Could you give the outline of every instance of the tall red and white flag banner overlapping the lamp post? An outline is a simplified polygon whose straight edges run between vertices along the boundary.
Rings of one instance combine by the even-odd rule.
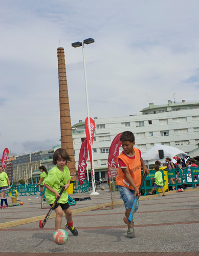
[[[91,161],[91,174],[93,177],[93,157],[92,157],[92,145],[93,145],[93,137],[94,137],[94,131],[95,131],[95,122],[93,119],[90,117],[90,127],[91,127],[91,136],[89,133],[89,122],[88,118],[86,117],[85,119],[85,133],[86,133],[86,139],[87,139],[87,145],[89,148],[89,156],[90,156],[90,161]],[[94,177],[93,177],[94,180]]]

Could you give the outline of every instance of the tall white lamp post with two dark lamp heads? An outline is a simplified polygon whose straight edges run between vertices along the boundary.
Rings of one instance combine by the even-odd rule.
[[[91,126],[90,126],[90,113],[89,113],[89,97],[88,97],[88,92],[87,92],[87,78],[86,78],[86,67],[85,67],[85,52],[84,52],[84,44],[89,45],[92,44],[92,42],[95,42],[93,38],[88,38],[83,40],[82,42],[73,42],[72,47],[80,47],[82,46],[82,52],[83,52],[83,67],[84,67],[84,80],[85,80],[85,93],[86,93],[86,106],[87,106],[87,118],[88,118],[88,123],[89,123],[89,133],[91,137]],[[93,192],[91,195],[99,195],[99,193],[96,191],[96,186],[95,186],[95,170],[94,170],[94,160],[93,160],[93,149],[91,145],[91,152],[92,152],[92,164],[93,164],[93,180],[92,180],[92,187],[93,187]]]

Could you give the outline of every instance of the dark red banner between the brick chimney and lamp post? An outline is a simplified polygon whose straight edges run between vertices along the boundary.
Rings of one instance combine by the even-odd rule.
[[[78,180],[80,185],[82,185],[83,181],[86,179],[85,170],[87,167],[87,163],[86,163],[87,158],[88,158],[87,139],[85,138],[81,144],[81,148],[79,152]]]

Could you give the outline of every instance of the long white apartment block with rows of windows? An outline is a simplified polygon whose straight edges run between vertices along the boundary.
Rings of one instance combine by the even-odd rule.
[[[182,103],[175,101],[173,103],[168,100],[168,104],[165,105],[149,103],[149,107],[140,112],[141,115],[94,118],[96,125],[93,141],[94,167],[95,172],[101,177],[107,178],[105,173],[110,144],[117,134],[124,131],[135,134],[135,147],[139,148],[142,154],[156,143],[178,147],[186,153],[198,147],[199,101],[188,103],[183,100]],[[76,170],[78,170],[80,147],[86,137],[84,122],[79,121],[73,125],[72,131]],[[88,166],[90,168],[90,161]]]

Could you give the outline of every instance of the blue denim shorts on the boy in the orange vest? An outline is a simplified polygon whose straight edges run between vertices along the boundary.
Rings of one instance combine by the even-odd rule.
[[[125,209],[126,210],[131,209],[132,205],[134,204],[134,201],[135,201],[135,197],[134,197],[135,190],[132,190],[127,187],[120,186],[120,185],[117,185],[117,187],[120,192],[121,199],[124,201]],[[138,209],[138,205],[139,204],[137,203],[135,212]]]

